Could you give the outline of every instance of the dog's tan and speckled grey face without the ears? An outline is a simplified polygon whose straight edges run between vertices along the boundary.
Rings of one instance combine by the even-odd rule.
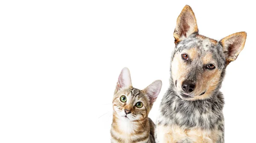
[[[218,49],[221,45],[217,41],[200,35],[191,35],[177,43],[171,70],[181,98],[206,97],[220,84],[226,61]]]

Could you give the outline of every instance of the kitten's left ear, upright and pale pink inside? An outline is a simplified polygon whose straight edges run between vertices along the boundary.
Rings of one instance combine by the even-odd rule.
[[[127,67],[124,67],[118,77],[118,81],[116,83],[116,91],[130,87],[132,87],[130,71]]]

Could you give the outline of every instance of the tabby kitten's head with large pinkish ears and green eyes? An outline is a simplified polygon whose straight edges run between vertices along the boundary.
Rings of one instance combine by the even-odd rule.
[[[130,71],[123,68],[113,97],[113,115],[128,121],[142,120],[148,117],[154,101],[162,87],[162,81],[156,80],[144,90],[132,87]]]

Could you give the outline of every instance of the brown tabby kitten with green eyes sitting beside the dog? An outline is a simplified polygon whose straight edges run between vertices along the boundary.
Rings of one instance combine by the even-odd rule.
[[[130,71],[123,68],[113,96],[111,143],[155,143],[154,122],[148,118],[162,88],[156,80],[144,90],[132,87]]]

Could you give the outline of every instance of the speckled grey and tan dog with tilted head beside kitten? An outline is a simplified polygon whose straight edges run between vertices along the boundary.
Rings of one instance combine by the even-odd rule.
[[[202,36],[192,8],[185,6],[173,35],[170,87],[160,104],[156,142],[224,143],[224,98],[219,90],[247,34],[238,32],[220,41]]]

